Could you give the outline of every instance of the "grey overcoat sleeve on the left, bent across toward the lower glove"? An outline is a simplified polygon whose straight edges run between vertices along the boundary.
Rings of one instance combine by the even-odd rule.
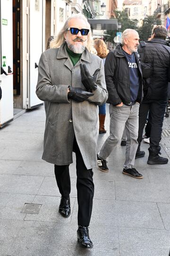
[[[68,101],[69,84],[51,84],[49,64],[45,53],[42,53],[38,64],[38,82],[36,94],[42,101],[70,103]]]

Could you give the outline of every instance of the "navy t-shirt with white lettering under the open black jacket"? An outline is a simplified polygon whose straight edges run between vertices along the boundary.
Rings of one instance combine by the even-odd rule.
[[[137,70],[137,64],[135,60],[135,55],[131,55],[124,51],[127,58],[128,68],[129,68],[129,78],[130,78],[130,99],[132,102],[136,101],[137,94],[139,90],[139,75]]]

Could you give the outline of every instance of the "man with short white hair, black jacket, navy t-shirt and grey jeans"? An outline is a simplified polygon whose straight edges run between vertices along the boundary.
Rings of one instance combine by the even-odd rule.
[[[97,155],[98,167],[108,172],[107,157],[120,142],[126,127],[127,145],[123,174],[142,179],[134,168],[138,136],[138,111],[143,97],[142,70],[137,54],[139,35],[134,29],[122,33],[121,45],[110,52],[105,62],[105,80],[110,103],[110,136]]]

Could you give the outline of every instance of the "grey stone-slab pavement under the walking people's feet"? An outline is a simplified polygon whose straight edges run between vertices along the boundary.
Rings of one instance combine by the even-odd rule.
[[[62,120],[61,120],[62,121]],[[41,160],[44,107],[28,111],[0,129],[0,256],[168,256],[170,249],[170,162],[147,165],[136,160],[144,175],[123,175],[125,147],[108,159],[109,173],[94,171],[95,195],[90,224],[91,250],[76,241],[77,201],[75,163],[68,219],[58,213],[60,194],[53,165]],[[99,135],[100,148],[109,135]],[[170,117],[163,129],[170,129]],[[170,156],[170,137],[162,137],[162,156]],[[75,159],[75,157],[74,157]],[[24,213],[24,205],[34,214]],[[36,210],[39,210],[38,214]]]

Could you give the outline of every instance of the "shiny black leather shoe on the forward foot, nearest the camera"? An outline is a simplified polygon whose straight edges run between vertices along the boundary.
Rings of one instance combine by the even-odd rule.
[[[93,248],[93,243],[89,237],[88,227],[78,226],[77,241],[78,241],[80,247],[89,248],[89,249]]]

